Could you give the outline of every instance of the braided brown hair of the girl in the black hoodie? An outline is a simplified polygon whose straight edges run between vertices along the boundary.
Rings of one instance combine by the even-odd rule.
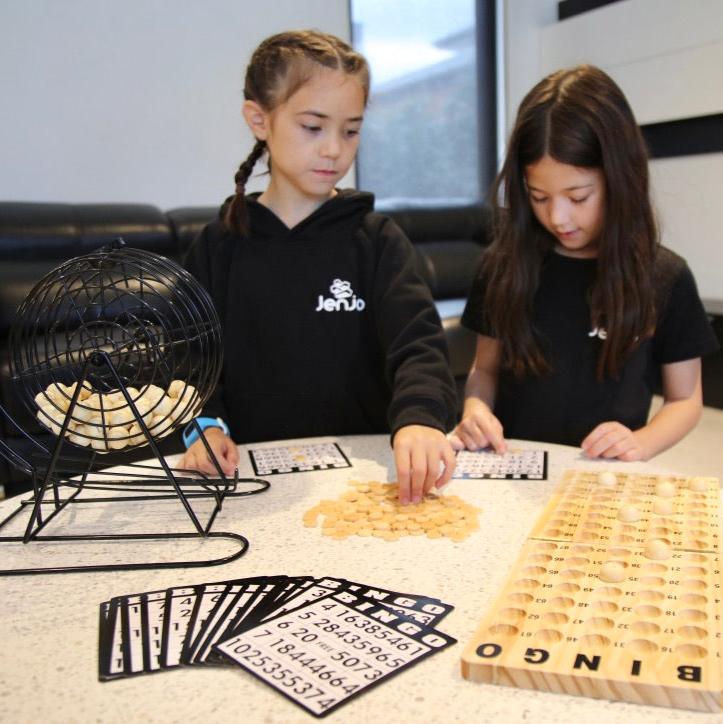
[[[307,83],[319,66],[356,76],[366,104],[369,66],[364,56],[336,36],[316,30],[289,31],[266,38],[254,51],[246,69],[244,98],[256,101],[265,111],[272,111]],[[266,143],[257,140],[234,176],[236,193],[222,210],[230,231],[246,232],[246,182],[265,151]]]

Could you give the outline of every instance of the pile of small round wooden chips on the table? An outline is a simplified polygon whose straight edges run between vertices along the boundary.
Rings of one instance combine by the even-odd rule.
[[[461,541],[479,528],[475,508],[456,495],[427,495],[420,503],[401,505],[396,483],[350,481],[351,490],[337,500],[322,500],[304,513],[304,525],[331,538],[375,536],[386,541],[407,535]]]

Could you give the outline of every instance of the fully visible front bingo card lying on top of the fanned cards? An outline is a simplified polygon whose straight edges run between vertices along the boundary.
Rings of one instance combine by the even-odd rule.
[[[322,717],[453,643],[345,590],[247,629],[216,650]]]

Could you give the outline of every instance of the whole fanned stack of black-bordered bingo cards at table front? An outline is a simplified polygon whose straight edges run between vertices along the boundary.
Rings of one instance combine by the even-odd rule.
[[[99,678],[239,666],[315,716],[456,643],[429,596],[340,578],[262,576],[100,606]]]

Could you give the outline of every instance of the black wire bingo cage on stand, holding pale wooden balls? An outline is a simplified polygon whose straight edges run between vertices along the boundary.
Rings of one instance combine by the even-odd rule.
[[[0,521],[0,543],[154,541],[222,537],[235,550],[193,561],[117,561],[36,566],[0,574],[216,565],[248,548],[236,533],[211,532],[227,496],[269,487],[265,480],[224,475],[196,414],[221,371],[221,327],[208,293],[182,267],[117,240],[48,273],[18,308],[10,331],[10,372],[28,413],[51,443],[23,429],[0,407],[20,445],[0,438],[0,455],[32,479],[32,494]],[[217,477],[172,468],[158,442],[192,423]],[[45,436],[48,438],[48,436]],[[150,464],[124,462],[147,446]],[[177,499],[194,532],[68,532],[71,504]],[[202,504],[201,504],[201,501]],[[203,507],[203,519],[200,508]],[[27,515],[24,522],[23,512]],[[185,516],[182,516],[185,520]],[[3,535],[20,521],[21,535]],[[109,516],[113,525],[113,515]],[[23,531],[24,527],[24,531]],[[52,534],[48,528],[53,529]],[[59,530],[57,530],[59,528]]]

